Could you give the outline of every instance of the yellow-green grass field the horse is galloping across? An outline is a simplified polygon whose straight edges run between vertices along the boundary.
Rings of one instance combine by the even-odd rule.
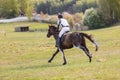
[[[94,35],[98,52],[87,40],[92,63],[82,50],[73,48],[65,50],[65,66],[61,54],[47,62],[56,50],[53,37],[47,38],[46,31],[14,32],[22,25],[47,28],[47,24],[33,22],[0,24],[0,80],[120,80],[120,25],[83,31]]]

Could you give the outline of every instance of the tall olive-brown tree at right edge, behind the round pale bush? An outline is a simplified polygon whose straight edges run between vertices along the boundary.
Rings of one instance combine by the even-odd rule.
[[[120,0],[99,0],[99,11],[104,16],[104,22],[111,25],[120,20]]]

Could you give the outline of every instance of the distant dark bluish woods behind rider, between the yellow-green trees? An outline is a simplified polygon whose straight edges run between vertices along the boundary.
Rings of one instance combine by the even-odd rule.
[[[47,14],[57,14],[59,12],[85,12],[86,9],[97,8],[96,0],[46,0],[35,4],[37,13],[41,11]]]

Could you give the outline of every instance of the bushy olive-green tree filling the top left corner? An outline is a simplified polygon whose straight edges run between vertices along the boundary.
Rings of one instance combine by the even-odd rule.
[[[12,18],[19,14],[19,5],[17,0],[1,0],[0,17]]]

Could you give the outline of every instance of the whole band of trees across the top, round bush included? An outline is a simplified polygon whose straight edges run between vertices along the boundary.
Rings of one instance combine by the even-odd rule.
[[[92,28],[120,22],[120,0],[37,0],[37,2],[1,0],[0,2],[0,18],[13,18],[20,14],[31,16],[33,10],[38,14],[43,12],[49,15],[64,11],[71,14],[83,13],[84,25]]]

